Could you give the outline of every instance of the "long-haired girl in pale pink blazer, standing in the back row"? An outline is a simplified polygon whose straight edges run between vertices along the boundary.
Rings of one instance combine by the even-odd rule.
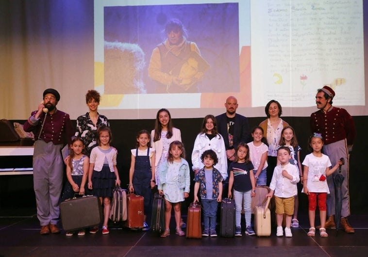
[[[156,150],[156,184],[158,184],[159,180],[159,166],[167,161],[169,145],[175,140],[182,141],[180,130],[172,126],[170,112],[165,108],[159,109],[156,115],[154,130],[151,131],[151,146]]]

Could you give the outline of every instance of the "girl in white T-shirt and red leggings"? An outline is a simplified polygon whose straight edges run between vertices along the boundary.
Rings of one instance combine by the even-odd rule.
[[[321,237],[328,237],[326,232],[326,197],[330,194],[327,185],[326,177],[335,172],[341,161],[339,161],[333,168],[330,169],[330,158],[321,152],[323,147],[323,138],[321,134],[314,133],[309,137],[309,146],[312,148],[312,153],[305,156],[303,161],[303,190],[302,192],[308,196],[308,216],[309,216],[309,237],[314,237],[316,234],[315,218],[316,208],[318,203],[319,219],[321,227],[319,228],[319,235]],[[317,200],[318,198],[318,200]]]

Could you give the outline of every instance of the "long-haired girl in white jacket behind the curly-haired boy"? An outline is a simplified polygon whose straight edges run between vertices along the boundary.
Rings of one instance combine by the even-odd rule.
[[[215,168],[220,171],[223,179],[226,180],[228,173],[225,142],[223,137],[217,132],[216,118],[211,114],[204,117],[201,133],[198,134],[194,142],[192,164],[195,174],[203,168],[203,163],[201,162],[202,153],[210,149],[216,152],[218,158]]]

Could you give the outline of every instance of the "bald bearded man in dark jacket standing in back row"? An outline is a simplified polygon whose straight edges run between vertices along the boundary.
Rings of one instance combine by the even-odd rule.
[[[226,112],[216,117],[218,133],[224,138],[225,142],[228,166],[235,159],[235,149],[238,144],[250,141],[248,119],[236,113],[237,107],[237,99],[234,96],[229,96],[225,103]],[[222,192],[227,192],[227,189]]]

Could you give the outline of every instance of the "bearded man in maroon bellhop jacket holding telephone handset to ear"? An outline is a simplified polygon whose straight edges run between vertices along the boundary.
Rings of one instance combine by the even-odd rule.
[[[59,233],[59,198],[63,183],[63,157],[60,150],[70,145],[74,135],[69,114],[56,109],[60,94],[54,89],[43,92],[43,101],[23,125],[34,134],[33,188],[41,235]],[[46,109],[47,108],[47,111]]]

